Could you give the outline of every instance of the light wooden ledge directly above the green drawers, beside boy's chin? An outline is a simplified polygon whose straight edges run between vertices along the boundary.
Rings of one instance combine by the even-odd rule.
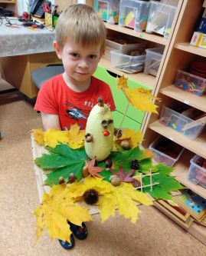
[[[107,70],[112,71],[116,75],[125,75],[126,78],[136,81],[136,82],[150,88],[151,90],[155,87],[155,76],[153,76],[153,75],[147,75],[143,72],[128,74],[123,71],[119,71],[116,68],[112,68],[110,61],[106,58],[101,58],[100,65],[103,66],[103,68],[106,68]]]

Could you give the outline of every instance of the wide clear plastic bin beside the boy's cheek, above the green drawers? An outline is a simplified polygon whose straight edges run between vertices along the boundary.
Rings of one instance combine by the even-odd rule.
[[[142,71],[145,61],[146,55],[131,56],[126,52],[111,51],[111,66],[126,73]]]

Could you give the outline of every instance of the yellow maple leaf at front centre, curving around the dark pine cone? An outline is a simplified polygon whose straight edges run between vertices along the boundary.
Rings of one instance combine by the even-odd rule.
[[[136,207],[135,201],[146,205],[152,204],[146,194],[135,191],[133,186],[126,182],[122,182],[121,185],[115,187],[101,178],[87,176],[83,182],[75,182],[67,189],[74,201],[83,200],[85,191],[95,189],[99,195],[96,205],[100,208],[102,222],[115,214],[116,207],[119,209],[119,214],[123,214],[125,218],[129,218],[132,222],[136,222],[140,211]]]

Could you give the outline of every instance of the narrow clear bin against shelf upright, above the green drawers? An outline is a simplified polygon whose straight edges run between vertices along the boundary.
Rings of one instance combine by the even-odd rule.
[[[163,52],[164,48],[162,47],[146,49],[146,65],[144,73],[157,75]]]

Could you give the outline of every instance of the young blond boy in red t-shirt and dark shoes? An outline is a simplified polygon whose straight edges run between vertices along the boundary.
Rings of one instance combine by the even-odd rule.
[[[57,20],[54,49],[64,65],[64,73],[41,86],[34,109],[41,111],[44,129],[70,128],[76,122],[85,128],[87,117],[99,97],[115,109],[109,85],[94,78],[98,62],[105,49],[106,28],[102,19],[88,5],[70,5]],[[71,231],[79,239],[87,238],[87,228],[70,223]],[[59,240],[60,241],[60,240]],[[66,248],[70,243],[60,241]]]

